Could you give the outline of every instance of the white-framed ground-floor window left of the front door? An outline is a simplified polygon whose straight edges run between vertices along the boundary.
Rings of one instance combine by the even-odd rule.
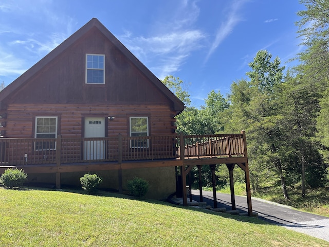
[[[57,137],[57,117],[35,117],[35,138],[51,139]],[[35,150],[55,150],[54,140],[35,142]]]

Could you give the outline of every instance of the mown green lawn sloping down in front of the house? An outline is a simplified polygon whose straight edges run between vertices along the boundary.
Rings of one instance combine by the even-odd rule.
[[[329,246],[251,218],[102,192],[0,187],[0,246]]]

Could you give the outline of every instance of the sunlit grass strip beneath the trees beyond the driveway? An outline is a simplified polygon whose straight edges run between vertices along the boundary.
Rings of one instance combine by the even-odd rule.
[[[304,198],[301,196],[301,186],[299,184],[294,187],[289,186],[287,189],[290,197],[289,200],[284,199],[280,185],[271,185],[260,188],[258,191],[252,191],[251,196],[329,217],[329,187],[316,189],[307,188]],[[225,186],[217,191],[221,193],[230,193],[230,186]],[[245,184],[235,183],[234,192],[235,195],[245,196]]]

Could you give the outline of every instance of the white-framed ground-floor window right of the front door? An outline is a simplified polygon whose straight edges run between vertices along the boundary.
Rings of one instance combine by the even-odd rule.
[[[149,118],[148,117],[130,117],[130,136],[148,136]],[[148,148],[149,139],[133,139],[132,148]]]

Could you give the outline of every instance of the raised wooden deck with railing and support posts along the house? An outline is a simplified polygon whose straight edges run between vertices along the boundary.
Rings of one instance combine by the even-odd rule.
[[[247,197],[251,200],[245,132],[240,134],[138,136],[102,138],[1,138],[0,174],[7,168],[26,173],[123,170],[181,167],[182,186],[193,166],[226,164],[233,184],[237,164],[246,173]],[[213,171],[214,177],[214,171]],[[249,189],[248,189],[249,188]],[[183,190],[187,205],[186,191]],[[234,197],[234,189],[232,197]],[[232,198],[233,200],[233,198]],[[233,203],[232,203],[233,204]],[[248,202],[249,205],[249,202]],[[250,201],[250,215],[251,201]]]

